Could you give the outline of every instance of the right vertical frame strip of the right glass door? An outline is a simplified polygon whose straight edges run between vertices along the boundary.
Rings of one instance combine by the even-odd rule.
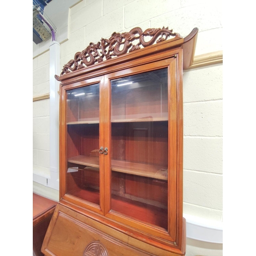
[[[168,67],[168,233],[176,242],[177,235],[177,68],[176,57]]]

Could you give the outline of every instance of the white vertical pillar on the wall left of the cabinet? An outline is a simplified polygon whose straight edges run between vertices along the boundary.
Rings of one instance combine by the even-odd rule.
[[[59,82],[54,75],[60,73],[60,45],[50,44],[50,173],[47,185],[59,190]]]

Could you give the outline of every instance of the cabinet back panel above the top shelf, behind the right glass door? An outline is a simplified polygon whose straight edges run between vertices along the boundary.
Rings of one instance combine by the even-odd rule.
[[[167,119],[167,69],[111,81],[112,122],[147,118]]]

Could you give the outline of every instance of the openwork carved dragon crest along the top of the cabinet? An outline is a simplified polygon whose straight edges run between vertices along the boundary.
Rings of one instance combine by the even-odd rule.
[[[82,69],[101,62],[105,59],[111,59],[122,54],[141,49],[142,47],[151,46],[154,42],[166,40],[169,36],[175,36],[172,40],[182,38],[178,33],[173,33],[173,30],[167,28],[162,29],[146,29],[144,32],[141,28],[133,28],[130,32],[116,33],[114,32],[109,39],[101,38],[97,44],[93,42],[82,52],[77,52],[74,59],[71,59],[63,66],[60,76],[72,71]],[[146,37],[151,37],[146,41]],[[138,40],[137,44],[132,44]]]

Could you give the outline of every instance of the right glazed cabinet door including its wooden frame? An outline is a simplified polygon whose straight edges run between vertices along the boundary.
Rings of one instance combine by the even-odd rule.
[[[158,230],[172,241],[177,202],[175,70],[173,57],[108,75],[108,216],[152,234]]]

